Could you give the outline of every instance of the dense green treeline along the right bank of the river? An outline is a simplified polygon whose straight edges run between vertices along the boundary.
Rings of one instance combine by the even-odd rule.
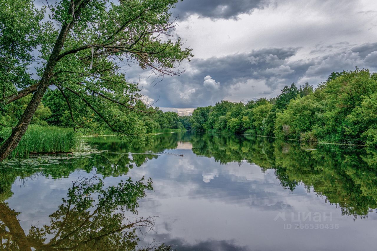
[[[285,86],[279,96],[221,101],[180,120],[186,129],[377,146],[377,73],[333,72],[316,89]]]

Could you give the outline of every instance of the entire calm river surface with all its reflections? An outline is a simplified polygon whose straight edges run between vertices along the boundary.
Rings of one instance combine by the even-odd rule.
[[[376,249],[373,149],[190,132],[90,144],[2,164],[0,250]]]

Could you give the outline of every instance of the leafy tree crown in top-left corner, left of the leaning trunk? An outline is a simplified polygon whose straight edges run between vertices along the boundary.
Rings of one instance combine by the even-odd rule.
[[[14,100],[17,88],[35,84],[28,66],[32,51],[41,44],[43,32],[51,28],[42,23],[46,8],[35,9],[33,1],[4,0],[0,4],[0,91],[1,98]],[[10,96],[9,96],[10,95]]]

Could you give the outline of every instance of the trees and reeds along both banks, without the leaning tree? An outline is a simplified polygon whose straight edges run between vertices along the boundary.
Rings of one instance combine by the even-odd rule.
[[[56,102],[61,93],[48,90],[45,96],[25,136],[9,157],[29,157],[32,152],[72,152],[79,150],[80,142],[89,134],[119,134],[99,124],[91,115],[83,116],[86,131],[74,132],[67,116],[68,108]],[[15,101],[2,117],[0,122],[8,126],[0,128],[0,144],[11,134],[11,126],[30,98],[28,95]],[[198,107],[191,116],[162,112],[141,101],[139,105],[147,115],[133,115],[138,130],[133,130],[133,136],[121,137],[122,141],[140,143],[148,141],[153,134],[192,130],[316,144],[377,146],[377,73],[365,69],[333,72],[316,89],[308,83],[299,88],[291,84],[270,99],[260,98],[246,104],[221,101],[215,106]]]

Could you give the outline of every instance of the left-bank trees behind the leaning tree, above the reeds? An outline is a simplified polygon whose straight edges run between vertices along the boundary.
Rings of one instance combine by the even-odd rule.
[[[2,125],[0,127],[0,137],[3,130],[15,126],[31,98],[32,95],[29,94],[9,104],[6,110],[0,111],[0,124]],[[109,117],[107,118],[109,121],[111,119],[112,121],[122,121],[121,123],[128,124],[132,129],[129,131],[134,132],[135,135],[145,135],[146,133],[159,132],[164,129],[184,129],[176,112],[162,112],[158,107],[147,106],[141,100],[136,100],[133,108],[134,110],[130,112],[130,110],[121,110],[119,107],[113,106],[112,110],[108,110],[103,116]],[[72,121],[72,117],[75,118],[75,122]],[[84,105],[80,103],[71,104],[71,109],[69,109],[66,99],[58,89],[46,91],[32,118],[31,124],[77,127],[78,130],[98,134],[110,130],[100,116]],[[0,143],[2,140],[4,139],[0,138]]]

